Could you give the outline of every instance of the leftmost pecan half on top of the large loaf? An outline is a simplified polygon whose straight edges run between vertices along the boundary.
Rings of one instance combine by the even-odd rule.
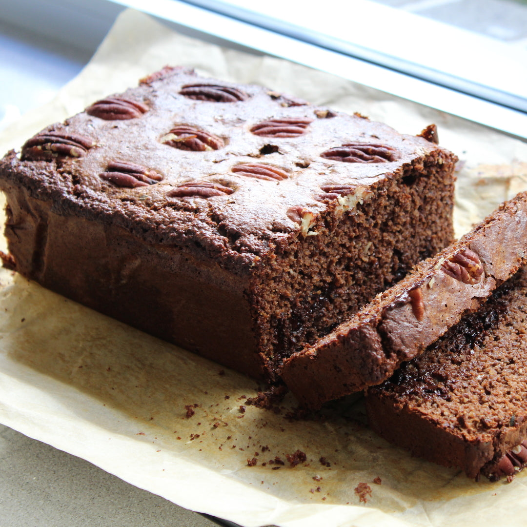
[[[60,155],[81,158],[94,145],[93,139],[64,130],[40,132],[24,143],[21,157],[23,161],[49,161]]]

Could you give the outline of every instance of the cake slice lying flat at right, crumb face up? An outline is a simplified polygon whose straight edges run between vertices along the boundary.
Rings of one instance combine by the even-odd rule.
[[[372,428],[467,476],[527,464],[527,268],[391,379],[367,392]]]

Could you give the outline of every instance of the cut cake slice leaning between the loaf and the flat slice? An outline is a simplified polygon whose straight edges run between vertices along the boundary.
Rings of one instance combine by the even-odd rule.
[[[354,317],[285,360],[281,376],[318,408],[382,383],[527,263],[527,193],[379,294]]]

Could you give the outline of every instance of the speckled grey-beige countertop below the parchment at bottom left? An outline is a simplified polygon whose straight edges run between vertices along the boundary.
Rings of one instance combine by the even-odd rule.
[[[0,425],[1,527],[217,524],[125,483],[79,457]]]

